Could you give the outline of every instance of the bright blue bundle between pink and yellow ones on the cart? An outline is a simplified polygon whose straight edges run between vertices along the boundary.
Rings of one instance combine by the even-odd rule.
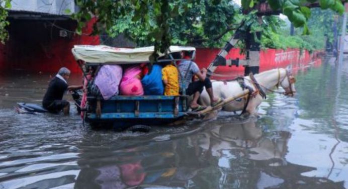
[[[144,88],[144,95],[163,95],[162,66],[152,65],[151,72],[141,79],[141,84]]]

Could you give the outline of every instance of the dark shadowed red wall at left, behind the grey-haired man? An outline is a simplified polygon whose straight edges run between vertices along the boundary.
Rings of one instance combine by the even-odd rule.
[[[83,33],[91,33],[91,21]],[[68,32],[68,37],[60,37],[52,26],[53,21],[12,20],[10,39],[0,45],[0,70],[25,70],[29,72],[56,72],[60,67],[68,67],[72,72],[79,68],[71,54],[75,44],[100,44],[99,37],[76,35]],[[76,23],[72,20],[55,21],[54,25],[74,31]]]

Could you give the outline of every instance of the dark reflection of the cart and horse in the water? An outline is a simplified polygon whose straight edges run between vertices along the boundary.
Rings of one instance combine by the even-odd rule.
[[[140,146],[108,146],[106,154],[79,146],[81,171],[75,187],[343,188],[342,183],[302,175],[314,167],[286,161],[290,132],[265,133],[254,118],[222,119],[179,139],[173,135],[158,142],[145,137],[138,141]]]

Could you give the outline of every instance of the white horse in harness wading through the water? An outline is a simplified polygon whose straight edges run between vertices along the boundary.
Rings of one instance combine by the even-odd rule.
[[[256,83],[259,84],[263,91],[271,91],[276,86],[282,86],[285,90],[284,94],[288,96],[294,96],[296,90],[294,83],[296,82],[289,68],[277,68],[269,71],[264,71],[254,75],[255,81],[250,79],[250,76],[244,77],[245,85],[251,87],[255,93],[254,97],[251,96],[249,103],[245,109],[245,113],[254,114],[256,108],[262,103],[263,97],[260,95],[259,89],[256,87]],[[234,97],[243,91],[238,81],[212,81],[213,91],[215,97],[229,98]],[[203,90],[200,97],[200,103],[204,106],[210,105],[209,95],[206,90]],[[232,103],[224,106],[222,111],[235,112],[243,110],[246,104],[246,98],[242,98],[239,101],[233,101]]]

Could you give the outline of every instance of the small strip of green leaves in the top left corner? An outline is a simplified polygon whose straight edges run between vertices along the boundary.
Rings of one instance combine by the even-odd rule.
[[[7,20],[8,12],[6,9],[11,8],[11,0],[0,0],[0,41],[5,44],[5,41],[9,38],[9,33],[6,27],[10,24]]]

